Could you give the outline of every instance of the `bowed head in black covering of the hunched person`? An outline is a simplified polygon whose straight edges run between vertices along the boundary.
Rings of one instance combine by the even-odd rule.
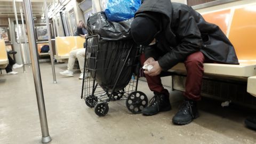
[[[140,45],[149,45],[160,29],[157,13],[137,14],[131,23],[133,41]]]

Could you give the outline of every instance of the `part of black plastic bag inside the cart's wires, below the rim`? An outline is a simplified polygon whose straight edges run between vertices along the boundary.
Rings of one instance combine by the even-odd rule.
[[[88,64],[91,76],[105,91],[122,90],[129,84],[137,61],[138,49],[132,41],[100,41],[99,48],[87,44]],[[130,52],[130,54],[129,54]],[[129,55],[128,55],[129,54]],[[127,60],[126,60],[127,59]],[[126,62],[125,62],[126,60]]]

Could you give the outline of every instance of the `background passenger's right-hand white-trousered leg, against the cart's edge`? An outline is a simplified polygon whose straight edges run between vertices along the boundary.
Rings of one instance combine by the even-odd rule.
[[[84,61],[85,61],[85,49],[80,49],[77,53],[76,53],[76,57],[79,63],[79,68],[81,70],[81,74],[79,76],[79,79],[83,79],[83,74],[84,74]],[[89,73],[85,73],[84,78],[89,77],[90,74]]]

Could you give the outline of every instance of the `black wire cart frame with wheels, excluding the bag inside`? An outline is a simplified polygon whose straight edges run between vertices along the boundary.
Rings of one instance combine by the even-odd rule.
[[[95,43],[94,45],[88,45],[88,40],[92,38],[92,43]],[[96,40],[97,42],[94,42]],[[113,89],[111,91],[103,89],[105,87],[101,87],[97,82],[96,82],[96,75],[98,70],[102,69],[97,69],[97,62],[99,60],[104,60],[98,57],[98,53],[101,51],[101,46],[100,46],[100,36],[99,35],[93,35],[86,37],[86,50],[85,50],[85,62],[84,62],[84,73],[83,73],[83,84],[82,84],[82,94],[81,94],[81,99],[85,100],[85,103],[88,107],[93,108],[95,114],[98,116],[105,116],[108,113],[109,110],[109,102],[110,101],[115,101],[115,100],[126,100],[126,107],[128,110],[130,110],[133,114],[139,114],[141,113],[141,110],[148,105],[148,98],[145,93],[137,91],[138,88],[138,81],[139,81],[139,58],[140,58],[140,51],[141,47],[138,47],[135,59],[137,59],[137,62],[132,63],[132,67],[134,67],[134,73],[132,74],[132,78],[127,84],[124,89],[122,90],[115,90],[117,82],[119,81],[119,78],[122,75],[122,72],[125,68],[125,63],[127,62],[127,59],[129,59],[131,50],[134,49],[133,46],[127,48],[129,49],[129,52],[125,58],[124,65],[121,68],[120,73],[117,75],[115,79]],[[91,54],[87,51],[88,49],[95,49],[95,57],[91,57]],[[86,61],[89,60],[94,60],[95,65],[94,68],[91,68],[89,66],[89,63]],[[89,71],[91,73],[94,73],[94,77],[89,76]]]

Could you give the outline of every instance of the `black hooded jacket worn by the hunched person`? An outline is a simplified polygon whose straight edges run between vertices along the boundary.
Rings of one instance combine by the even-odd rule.
[[[145,0],[135,18],[140,15],[150,17],[152,12],[159,15],[161,30],[155,37],[156,47],[147,46],[144,51],[146,59],[155,58],[163,70],[183,62],[197,51],[217,62],[239,64],[234,46],[221,29],[206,22],[190,6],[170,0]]]

